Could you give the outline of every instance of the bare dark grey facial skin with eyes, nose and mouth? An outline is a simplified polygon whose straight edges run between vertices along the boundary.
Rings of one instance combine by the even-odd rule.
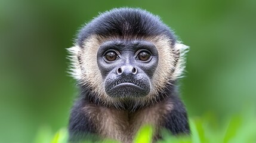
[[[158,66],[158,50],[147,41],[107,41],[98,49],[97,64],[109,97],[144,97]]]

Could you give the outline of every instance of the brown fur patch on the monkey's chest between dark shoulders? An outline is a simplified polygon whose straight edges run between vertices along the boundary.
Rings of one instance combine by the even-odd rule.
[[[97,130],[103,138],[116,139],[121,142],[132,142],[138,129],[149,124],[158,129],[161,123],[161,116],[152,111],[140,111],[134,114],[124,111],[106,110],[101,112],[98,119]]]

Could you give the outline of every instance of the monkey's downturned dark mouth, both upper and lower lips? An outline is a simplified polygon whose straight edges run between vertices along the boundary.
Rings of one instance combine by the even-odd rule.
[[[144,97],[150,91],[149,83],[131,78],[116,80],[105,87],[105,91],[110,97]]]

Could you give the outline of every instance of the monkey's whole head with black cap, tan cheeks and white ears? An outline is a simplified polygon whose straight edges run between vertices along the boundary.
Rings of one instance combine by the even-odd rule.
[[[157,102],[181,76],[187,48],[159,17],[113,9],[79,31],[70,73],[95,104],[134,109]]]

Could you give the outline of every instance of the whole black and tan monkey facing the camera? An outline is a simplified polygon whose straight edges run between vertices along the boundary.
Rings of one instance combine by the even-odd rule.
[[[132,142],[144,124],[173,135],[190,134],[178,95],[189,46],[159,16],[140,8],[114,8],[79,30],[69,48],[70,74],[81,93],[69,119],[69,141],[90,135]]]

